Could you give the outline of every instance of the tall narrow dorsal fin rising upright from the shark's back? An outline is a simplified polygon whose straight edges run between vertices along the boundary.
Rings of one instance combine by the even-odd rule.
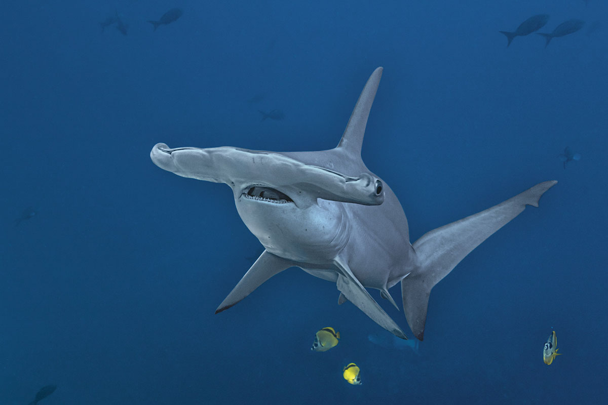
[[[371,104],[376,97],[376,90],[378,90],[381,77],[382,67],[376,68],[371,73],[361,95],[359,95],[359,100],[357,100],[357,104],[354,106],[353,113],[350,115],[344,134],[342,134],[342,139],[340,139],[340,143],[337,146],[339,149],[345,149],[350,155],[361,157],[361,145],[363,144],[367,117],[370,115]]]

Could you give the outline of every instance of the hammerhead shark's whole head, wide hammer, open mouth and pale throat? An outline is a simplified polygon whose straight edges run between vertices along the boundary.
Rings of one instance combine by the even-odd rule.
[[[349,221],[343,206],[331,202],[384,201],[384,185],[370,172],[351,177],[277,152],[159,143],[150,156],[182,177],[229,185],[247,228],[266,250],[292,260],[327,262],[344,247]]]

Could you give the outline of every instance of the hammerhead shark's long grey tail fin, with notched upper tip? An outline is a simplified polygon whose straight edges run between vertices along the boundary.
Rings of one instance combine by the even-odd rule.
[[[554,180],[539,183],[499,205],[441,226],[416,240],[413,248],[420,270],[401,280],[403,309],[416,338],[423,339],[429,294],[435,284],[488,236],[519,215],[526,205],[538,206],[542,194],[556,183]]]

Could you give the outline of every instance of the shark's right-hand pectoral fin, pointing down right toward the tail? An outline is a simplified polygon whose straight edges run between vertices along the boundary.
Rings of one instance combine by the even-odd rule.
[[[370,293],[365,290],[359,280],[354,276],[348,265],[334,261],[338,269],[337,287],[348,301],[352,302],[360,310],[364,311],[365,315],[369,316],[374,322],[388,330],[393,335],[401,339],[407,339],[407,336],[399,325],[384,312],[382,307],[378,305]]]

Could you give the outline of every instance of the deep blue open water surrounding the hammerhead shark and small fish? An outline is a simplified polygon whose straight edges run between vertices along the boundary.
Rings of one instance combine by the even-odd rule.
[[[606,398],[608,5],[375,3],[2,5],[1,405],[47,384],[58,389],[44,405]],[[182,17],[153,32],[147,20],[173,7]],[[100,29],[115,11],[126,36]],[[540,32],[587,26],[507,48],[499,30],[539,13],[551,16]],[[370,342],[381,328],[297,268],[214,315],[261,246],[227,186],[162,171],[150,149],[333,148],[377,66],[362,157],[399,197],[412,242],[559,184],[433,289],[418,354]],[[564,169],[566,146],[582,157]],[[339,345],[311,352],[326,326]],[[546,366],[552,328],[564,355]],[[342,378],[349,362],[362,386]]]

